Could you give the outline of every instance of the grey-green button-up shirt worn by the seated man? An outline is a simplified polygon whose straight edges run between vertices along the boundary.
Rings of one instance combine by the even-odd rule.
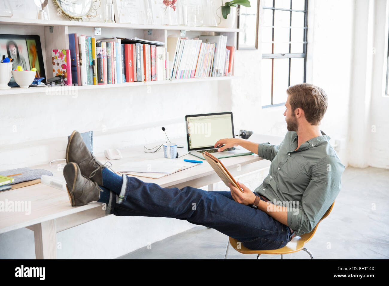
[[[321,133],[296,151],[296,132],[287,132],[280,145],[267,142],[258,146],[258,155],[272,163],[254,192],[287,207],[287,223],[296,235],[311,232],[341,188],[345,167],[329,144],[330,137]]]

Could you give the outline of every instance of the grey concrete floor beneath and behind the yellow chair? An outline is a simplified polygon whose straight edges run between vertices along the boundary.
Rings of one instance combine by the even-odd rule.
[[[346,168],[342,190],[331,214],[306,244],[315,259],[389,258],[389,170]],[[228,237],[214,229],[197,226],[158,241],[118,259],[224,259]],[[229,259],[255,259],[234,249]],[[304,251],[285,254],[284,259],[308,259]],[[280,259],[262,254],[261,259]]]

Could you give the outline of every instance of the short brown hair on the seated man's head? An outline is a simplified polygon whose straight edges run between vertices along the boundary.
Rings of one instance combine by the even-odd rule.
[[[292,112],[301,108],[311,125],[320,124],[328,106],[327,94],[323,89],[310,83],[299,83],[289,86],[286,92],[289,94]]]

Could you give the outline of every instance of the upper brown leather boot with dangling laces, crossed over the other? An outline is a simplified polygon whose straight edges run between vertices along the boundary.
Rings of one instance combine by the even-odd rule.
[[[76,130],[73,131],[66,147],[66,163],[74,162],[79,165],[81,174],[88,177],[98,185],[103,185],[102,163],[96,160],[91,151],[86,146],[82,136]]]

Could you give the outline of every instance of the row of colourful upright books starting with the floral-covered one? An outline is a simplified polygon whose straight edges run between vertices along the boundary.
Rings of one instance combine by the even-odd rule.
[[[168,55],[163,43],[122,44],[123,39],[97,40],[77,33],[68,35],[69,49],[52,51],[53,75],[63,75],[67,85],[168,79]]]

